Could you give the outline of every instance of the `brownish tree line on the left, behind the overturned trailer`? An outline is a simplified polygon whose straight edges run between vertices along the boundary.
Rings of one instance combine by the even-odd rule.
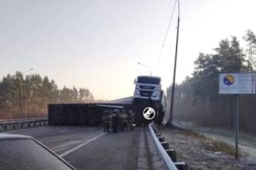
[[[24,75],[17,71],[0,81],[0,119],[44,117],[49,103],[92,103],[89,89],[60,89],[54,80],[40,74]]]

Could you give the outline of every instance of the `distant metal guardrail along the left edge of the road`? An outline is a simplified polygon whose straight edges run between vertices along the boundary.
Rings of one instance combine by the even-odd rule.
[[[22,118],[0,122],[0,131],[14,130],[16,128],[22,129],[24,127],[36,127],[36,125],[46,125],[47,118]]]

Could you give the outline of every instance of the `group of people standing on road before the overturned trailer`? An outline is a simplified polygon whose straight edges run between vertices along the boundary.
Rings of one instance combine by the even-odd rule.
[[[102,117],[104,132],[133,131],[134,113],[131,110],[106,110]]]

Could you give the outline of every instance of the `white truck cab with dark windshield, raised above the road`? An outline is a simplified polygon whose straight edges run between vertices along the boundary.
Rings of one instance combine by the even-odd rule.
[[[161,78],[157,76],[138,76],[134,80],[134,99],[150,99],[159,101],[161,99]]]

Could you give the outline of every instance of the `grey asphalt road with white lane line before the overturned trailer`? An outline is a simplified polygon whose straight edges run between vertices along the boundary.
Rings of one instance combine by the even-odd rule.
[[[76,169],[164,169],[147,127],[104,133],[101,127],[42,126],[9,133],[33,136]]]

